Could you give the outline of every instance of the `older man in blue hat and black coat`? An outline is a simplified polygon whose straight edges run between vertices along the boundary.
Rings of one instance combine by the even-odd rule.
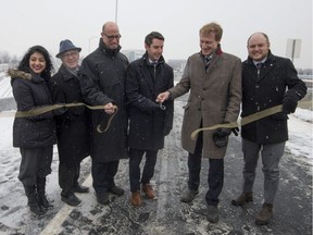
[[[62,65],[51,78],[50,91],[53,103],[83,102],[77,71],[79,52],[68,39],[60,42],[60,51],[55,55]],[[78,184],[80,162],[90,153],[90,134],[88,110],[83,106],[55,110],[58,150],[59,150],[59,185],[62,188],[61,200],[70,206],[78,206],[80,199],[74,193],[88,193],[89,188]]]

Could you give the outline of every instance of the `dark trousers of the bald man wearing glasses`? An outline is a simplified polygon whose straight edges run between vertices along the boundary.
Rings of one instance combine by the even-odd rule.
[[[117,173],[120,161],[97,162],[92,160],[92,186],[97,194],[109,191],[115,186],[114,176]]]

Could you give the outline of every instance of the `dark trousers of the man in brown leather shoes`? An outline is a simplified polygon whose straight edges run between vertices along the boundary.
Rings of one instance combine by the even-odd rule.
[[[142,177],[140,181],[140,163],[146,152],[146,162],[142,171]],[[138,149],[129,149],[129,181],[130,191],[135,193],[140,190],[141,184],[149,184],[150,180],[154,175],[154,166],[156,163],[158,151],[145,151]]]

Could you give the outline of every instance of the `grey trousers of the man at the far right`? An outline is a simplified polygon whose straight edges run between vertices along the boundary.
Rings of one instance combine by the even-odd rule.
[[[261,145],[242,138],[243,193],[252,191],[261,152],[264,173],[264,200],[266,203],[274,202],[279,183],[279,161],[284,154],[285,144],[286,141]]]

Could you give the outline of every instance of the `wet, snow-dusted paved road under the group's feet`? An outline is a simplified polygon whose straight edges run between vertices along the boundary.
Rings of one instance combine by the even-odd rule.
[[[179,101],[178,101],[179,102]],[[177,103],[177,102],[176,102]],[[262,206],[263,174],[258,170],[254,201],[245,207],[234,207],[230,200],[240,194],[242,154],[240,138],[231,137],[225,159],[225,184],[221,195],[221,219],[217,224],[206,221],[204,195],[208,188],[208,161],[203,160],[200,194],[190,205],[181,203],[179,197],[187,186],[187,153],[180,148],[183,111],[175,110],[174,129],[160,151],[154,188],[158,200],[143,200],[135,209],[129,203],[128,162],[121,161],[116,183],[126,189],[122,197],[111,197],[109,206],[98,205],[95,191],[79,195],[82,206],[72,208],[60,202],[55,194],[54,209],[45,219],[21,222],[23,230],[11,230],[4,234],[118,234],[118,235],[310,235],[312,234],[312,171],[304,162],[295,161],[286,152],[281,160],[281,181],[274,219],[271,224],[258,226],[253,217]],[[90,161],[85,161],[83,174],[86,185]],[[51,197],[51,195],[50,195]],[[1,231],[1,225],[0,225]],[[9,231],[9,230],[8,230]],[[1,232],[0,232],[1,234]]]

